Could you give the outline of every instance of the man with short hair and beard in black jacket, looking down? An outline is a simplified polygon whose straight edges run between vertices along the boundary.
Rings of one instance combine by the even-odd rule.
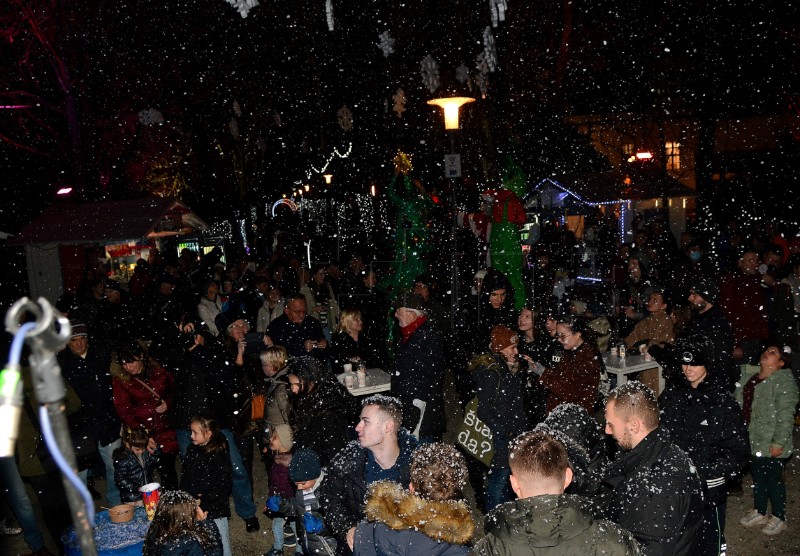
[[[606,401],[606,434],[622,450],[605,473],[604,517],[627,529],[647,556],[696,553],[703,494],[694,464],[659,426],[658,402],[641,382]]]

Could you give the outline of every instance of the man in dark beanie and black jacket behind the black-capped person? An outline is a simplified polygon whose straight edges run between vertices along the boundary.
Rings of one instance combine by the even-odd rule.
[[[705,336],[713,346],[712,359],[717,362],[717,375],[713,380],[728,392],[733,392],[739,369],[733,360],[733,331],[722,310],[715,305],[719,288],[713,279],[699,276],[692,280],[689,290],[692,320],[683,336]]]

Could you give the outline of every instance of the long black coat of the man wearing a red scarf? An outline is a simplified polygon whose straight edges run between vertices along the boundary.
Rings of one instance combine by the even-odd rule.
[[[439,437],[447,428],[444,415],[444,360],[442,336],[427,320],[395,353],[392,395],[403,402],[403,426],[414,430],[419,422],[415,399],[426,403],[420,438]]]

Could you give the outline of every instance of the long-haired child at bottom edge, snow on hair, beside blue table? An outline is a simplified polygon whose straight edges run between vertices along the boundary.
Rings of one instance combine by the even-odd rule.
[[[188,492],[161,494],[147,531],[143,556],[222,556],[222,541],[214,522]]]

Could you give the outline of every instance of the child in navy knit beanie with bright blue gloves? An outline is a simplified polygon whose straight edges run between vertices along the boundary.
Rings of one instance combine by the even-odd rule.
[[[322,484],[319,456],[311,448],[301,448],[292,456],[289,477],[297,486],[294,498],[271,496],[267,508],[288,518],[297,518],[297,533],[305,554],[336,554],[336,538],[325,526],[317,489]]]

